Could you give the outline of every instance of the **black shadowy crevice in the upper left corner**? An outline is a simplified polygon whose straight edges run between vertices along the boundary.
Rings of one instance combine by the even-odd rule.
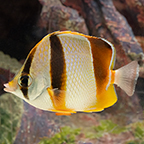
[[[37,0],[5,0],[0,5],[0,51],[18,60],[26,58],[39,41],[34,33],[42,9]]]

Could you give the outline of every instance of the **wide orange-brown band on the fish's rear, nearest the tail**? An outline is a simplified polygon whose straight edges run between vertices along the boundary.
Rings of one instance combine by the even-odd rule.
[[[102,39],[88,38],[88,40],[91,44],[94,74],[98,93],[100,90],[104,90],[109,82],[109,66],[112,57],[112,48]]]

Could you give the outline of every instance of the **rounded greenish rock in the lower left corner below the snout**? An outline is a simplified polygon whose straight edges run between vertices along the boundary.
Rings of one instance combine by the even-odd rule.
[[[23,102],[20,98],[5,93],[0,97],[0,142],[12,144],[20,127]]]

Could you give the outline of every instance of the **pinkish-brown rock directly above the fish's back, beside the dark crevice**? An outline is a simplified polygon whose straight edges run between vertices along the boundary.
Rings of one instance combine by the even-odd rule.
[[[88,34],[85,20],[72,8],[65,7],[59,0],[40,0],[43,5],[39,26],[47,32],[71,30]]]

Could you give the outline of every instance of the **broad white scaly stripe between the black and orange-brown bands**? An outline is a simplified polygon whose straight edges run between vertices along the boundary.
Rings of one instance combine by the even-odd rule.
[[[66,59],[66,107],[82,111],[96,102],[91,45],[88,39],[81,35],[61,34],[58,37],[62,42]],[[85,45],[81,45],[83,43]]]

